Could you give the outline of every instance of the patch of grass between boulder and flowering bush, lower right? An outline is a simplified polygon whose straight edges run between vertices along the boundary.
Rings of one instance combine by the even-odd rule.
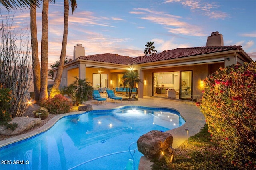
[[[170,154],[158,160],[152,159],[152,170],[237,170],[226,158],[222,157],[222,149],[210,142],[207,125],[191,136],[188,142],[182,143],[174,150],[174,162],[170,162]]]

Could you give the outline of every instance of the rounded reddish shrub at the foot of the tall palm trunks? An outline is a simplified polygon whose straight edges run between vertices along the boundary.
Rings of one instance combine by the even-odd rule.
[[[68,113],[72,108],[71,102],[61,94],[58,94],[53,98],[48,98],[47,100],[42,100],[40,106],[47,108],[50,114]]]

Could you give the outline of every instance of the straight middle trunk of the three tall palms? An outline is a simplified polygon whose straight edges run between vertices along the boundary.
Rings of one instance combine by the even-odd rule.
[[[42,40],[41,40],[41,89],[39,99],[48,98],[48,9],[49,0],[43,1],[42,10]]]

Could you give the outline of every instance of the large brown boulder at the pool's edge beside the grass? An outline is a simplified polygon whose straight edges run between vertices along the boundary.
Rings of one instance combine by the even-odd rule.
[[[142,136],[137,141],[138,151],[150,158],[172,146],[173,137],[171,134],[152,130]]]

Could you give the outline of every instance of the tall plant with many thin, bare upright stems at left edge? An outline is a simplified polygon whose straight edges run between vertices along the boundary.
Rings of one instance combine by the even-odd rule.
[[[6,23],[2,15],[1,19],[0,82],[12,92],[12,105],[8,108],[8,113],[12,117],[18,117],[22,116],[26,108],[26,94],[32,75],[29,37],[15,29],[10,16],[6,16]]]

